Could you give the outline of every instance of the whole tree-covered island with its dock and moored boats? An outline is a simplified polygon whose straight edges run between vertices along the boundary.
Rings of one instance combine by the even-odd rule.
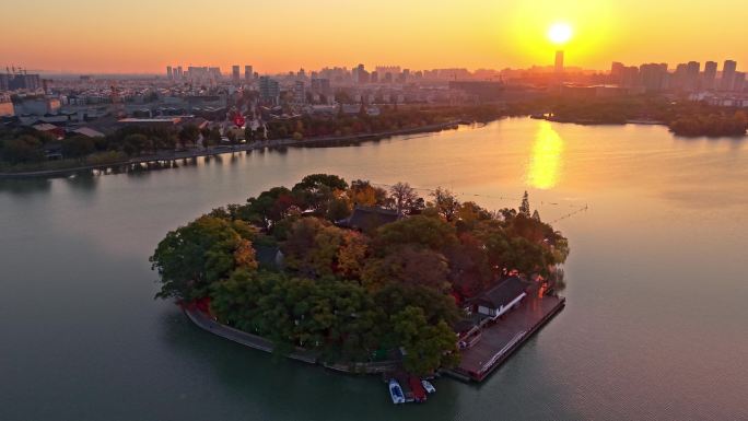
[[[421,378],[482,381],[563,307],[568,254],[527,194],[491,212],[314,174],[170,232],[151,262],[197,326],[424,400]]]

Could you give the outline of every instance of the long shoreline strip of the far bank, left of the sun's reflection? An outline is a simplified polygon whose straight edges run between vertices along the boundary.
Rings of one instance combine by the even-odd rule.
[[[242,143],[236,145],[222,145],[213,147],[209,149],[196,149],[191,151],[184,152],[171,152],[164,154],[155,155],[143,155],[139,157],[133,157],[127,161],[113,162],[107,164],[95,164],[95,165],[80,165],[69,168],[57,168],[57,169],[38,169],[38,171],[24,171],[17,173],[0,173],[0,179],[23,179],[23,178],[39,178],[39,177],[56,177],[73,175],[83,171],[96,171],[96,169],[107,169],[114,167],[122,167],[128,165],[140,165],[150,164],[157,162],[172,162],[178,160],[188,160],[200,156],[215,156],[227,153],[235,152],[247,152],[255,150],[262,150],[267,148],[322,148],[327,145],[344,145],[344,144],[358,144],[371,140],[382,140],[386,138],[391,138],[395,136],[405,135],[417,135],[417,133],[435,133],[444,130],[455,130],[460,125],[471,125],[476,121],[467,120],[452,120],[447,122],[442,122],[437,125],[429,125],[421,127],[413,127],[400,130],[383,131],[378,133],[362,133],[362,135],[351,135],[351,136],[340,136],[340,137],[326,137],[326,138],[312,138],[312,139],[274,139],[256,141],[252,143]]]

